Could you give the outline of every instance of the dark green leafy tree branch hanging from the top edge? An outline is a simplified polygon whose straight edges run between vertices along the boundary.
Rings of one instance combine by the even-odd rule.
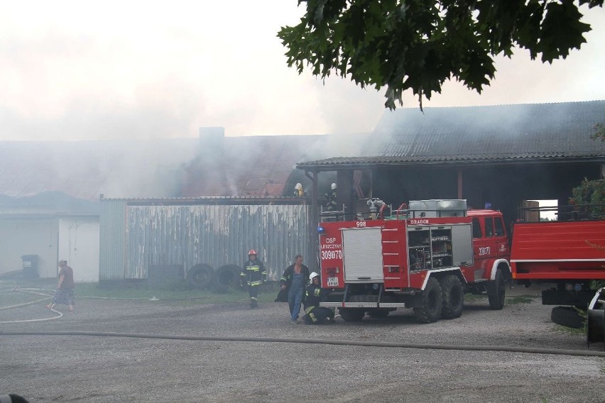
[[[585,43],[590,26],[578,6],[604,0],[299,0],[307,12],[282,27],[288,66],[298,72],[350,77],[361,87],[386,87],[395,109],[406,89],[440,93],[446,79],[481,92],[494,78],[496,55],[513,47],[552,62]]]

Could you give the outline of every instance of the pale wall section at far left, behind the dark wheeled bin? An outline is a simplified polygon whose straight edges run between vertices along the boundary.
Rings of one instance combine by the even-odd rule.
[[[38,275],[56,277],[57,236],[54,218],[0,219],[0,273],[21,270],[23,255],[38,255]]]

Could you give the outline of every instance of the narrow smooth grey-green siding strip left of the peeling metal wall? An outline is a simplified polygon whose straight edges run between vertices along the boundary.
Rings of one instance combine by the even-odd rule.
[[[124,280],[126,201],[101,200],[99,280]]]

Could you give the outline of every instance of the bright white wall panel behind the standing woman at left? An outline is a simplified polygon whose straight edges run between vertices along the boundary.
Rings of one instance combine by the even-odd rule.
[[[99,281],[99,217],[59,220],[59,260],[67,260],[76,282]]]

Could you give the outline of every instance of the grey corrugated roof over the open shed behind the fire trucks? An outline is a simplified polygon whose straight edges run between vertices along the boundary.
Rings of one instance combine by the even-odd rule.
[[[605,142],[590,136],[604,121],[605,101],[398,109],[383,114],[363,155],[298,167],[599,158]]]

